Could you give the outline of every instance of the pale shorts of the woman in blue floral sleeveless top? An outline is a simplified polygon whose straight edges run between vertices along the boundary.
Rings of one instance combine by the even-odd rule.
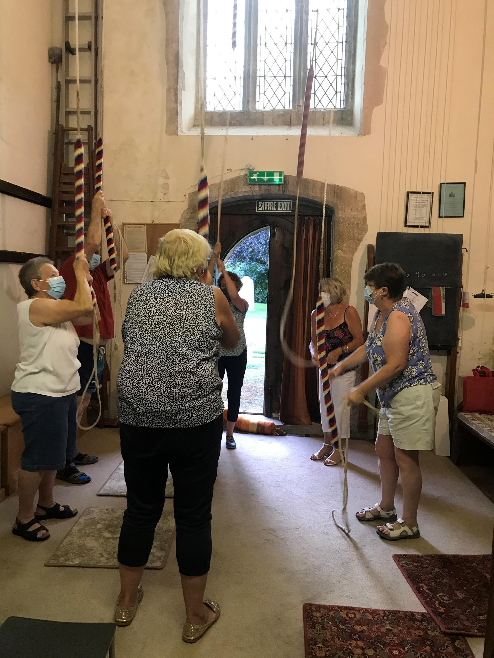
[[[439,382],[404,388],[388,407],[382,407],[378,434],[391,436],[395,447],[402,450],[432,450],[440,399]]]

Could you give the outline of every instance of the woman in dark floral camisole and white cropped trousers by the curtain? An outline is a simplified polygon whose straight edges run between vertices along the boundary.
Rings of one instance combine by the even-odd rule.
[[[328,367],[331,368],[339,363],[339,361],[346,359],[360,345],[364,345],[364,334],[357,309],[348,306],[343,301],[346,291],[339,279],[321,279],[319,282],[319,293],[325,306],[324,335],[326,359]],[[317,355],[316,310],[312,311],[311,324],[312,341],[310,343],[310,353],[312,354],[312,361],[316,365],[319,365],[319,357]],[[335,408],[338,436],[341,439],[346,439],[346,433],[350,431],[350,407],[344,401],[344,396],[352,390],[354,385],[355,369],[348,370],[344,375],[333,379],[331,382],[331,399]],[[338,450],[338,443],[331,445],[331,433],[329,432],[329,424],[327,422],[320,373],[319,407],[321,409],[324,443],[317,453],[310,456],[310,459],[314,461],[323,459],[325,466],[336,466],[340,463],[341,456]]]

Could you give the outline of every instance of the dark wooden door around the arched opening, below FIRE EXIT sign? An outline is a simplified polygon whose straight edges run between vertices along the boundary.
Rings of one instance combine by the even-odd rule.
[[[261,199],[292,201],[291,213],[269,213],[257,210]],[[292,272],[295,197],[292,195],[256,195],[224,199],[221,206],[219,240],[221,257],[235,245],[262,228],[269,228],[269,274],[267,284],[267,319],[265,347],[264,415],[277,417],[283,374],[283,350],[279,340],[281,315],[287,300]],[[322,204],[300,199],[299,216],[322,217]],[[331,272],[331,223],[333,212],[326,209],[325,272]],[[217,203],[211,203],[209,236],[217,235]],[[215,238],[214,238],[215,240]]]

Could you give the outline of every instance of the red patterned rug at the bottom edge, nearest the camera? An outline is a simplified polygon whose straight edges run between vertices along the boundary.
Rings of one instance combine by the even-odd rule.
[[[473,658],[466,640],[445,635],[427,613],[305,603],[306,658]]]

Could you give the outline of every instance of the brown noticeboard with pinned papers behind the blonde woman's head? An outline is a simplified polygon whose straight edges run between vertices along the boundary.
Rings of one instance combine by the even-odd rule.
[[[178,224],[122,224],[123,238],[129,253],[124,265],[124,284],[135,286],[143,280],[149,280],[148,274],[156,255],[158,240],[174,228],[178,228]]]

